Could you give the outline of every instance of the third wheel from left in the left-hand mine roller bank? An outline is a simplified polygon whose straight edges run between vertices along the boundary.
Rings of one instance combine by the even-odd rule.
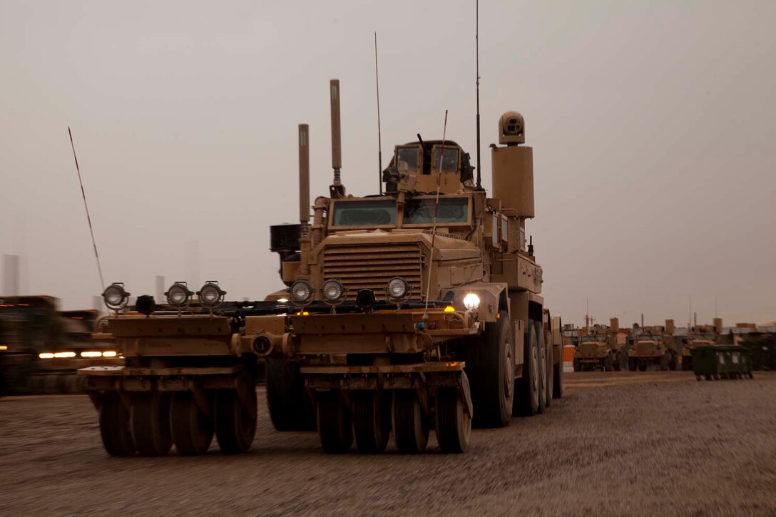
[[[197,407],[191,391],[172,394],[170,428],[181,456],[204,454],[213,441],[213,422]]]

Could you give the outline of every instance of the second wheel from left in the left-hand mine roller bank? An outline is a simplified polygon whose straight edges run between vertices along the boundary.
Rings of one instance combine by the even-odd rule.
[[[132,394],[132,437],[140,456],[165,456],[172,446],[170,394],[145,391]]]

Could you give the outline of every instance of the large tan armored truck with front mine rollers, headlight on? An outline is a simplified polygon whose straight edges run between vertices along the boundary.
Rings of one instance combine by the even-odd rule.
[[[492,145],[492,197],[469,154],[446,139],[398,145],[385,192],[350,196],[341,183],[339,82],[331,82],[334,182],[314,203],[300,126],[300,225],[272,227],[285,290],[263,302],[223,302],[207,283],[188,311],[185,284],[167,293],[178,314],[120,314],[107,330],[127,366],[83,371],[109,453],[200,454],[213,432],[225,452],[251,446],[253,376],[267,359],[278,429],[310,428],[324,450],[379,453],[393,434],[421,453],[431,429],[445,453],[469,447],[472,422],[508,425],[562,394],[560,321],[544,307],[542,268],[526,238],[534,217],[532,149],[518,113]],[[140,304],[140,299],[138,299]]]

